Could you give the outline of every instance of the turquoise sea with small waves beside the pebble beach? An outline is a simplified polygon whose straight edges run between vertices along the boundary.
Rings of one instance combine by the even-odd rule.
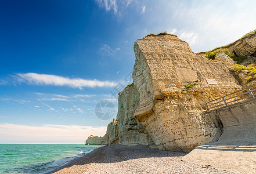
[[[82,144],[0,144],[0,173],[51,173],[101,146]]]

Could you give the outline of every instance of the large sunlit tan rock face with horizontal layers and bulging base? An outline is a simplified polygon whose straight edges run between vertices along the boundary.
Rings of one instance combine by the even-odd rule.
[[[190,151],[217,133],[205,112],[211,99],[240,89],[228,67],[195,55],[175,35],[155,35],[134,45],[134,85],[139,92],[135,117],[149,133],[149,146]],[[207,84],[215,79],[218,85]],[[185,89],[186,85],[193,88]]]

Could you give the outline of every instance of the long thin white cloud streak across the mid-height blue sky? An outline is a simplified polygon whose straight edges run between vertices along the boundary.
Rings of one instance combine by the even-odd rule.
[[[110,81],[98,81],[81,79],[81,78],[67,78],[58,75],[49,74],[37,74],[37,73],[26,73],[17,74],[19,82],[26,82],[27,84],[33,85],[53,85],[53,86],[69,86],[73,88],[79,87],[113,87],[116,86],[116,82]]]

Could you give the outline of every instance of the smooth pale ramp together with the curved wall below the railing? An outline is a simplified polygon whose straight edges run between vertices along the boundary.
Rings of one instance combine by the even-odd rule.
[[[255,173],[256,98],[210,114],[220,128],[217,142],[197,146],[182,160],[235,173]]]

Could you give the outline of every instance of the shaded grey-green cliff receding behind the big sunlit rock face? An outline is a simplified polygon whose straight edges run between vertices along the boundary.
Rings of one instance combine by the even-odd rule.
[[[134,117],[135,109],[139,106],[139,93],[134,84],[128,85],[124,91],[118,93],[117,119],[107,125],[103,144],[122,144],[134,146],[147,145],[149,136],[142,124]],[[98,138],[88,138],[86,142],[98,142]],[[92,143],[90,143],[92,144]]]

